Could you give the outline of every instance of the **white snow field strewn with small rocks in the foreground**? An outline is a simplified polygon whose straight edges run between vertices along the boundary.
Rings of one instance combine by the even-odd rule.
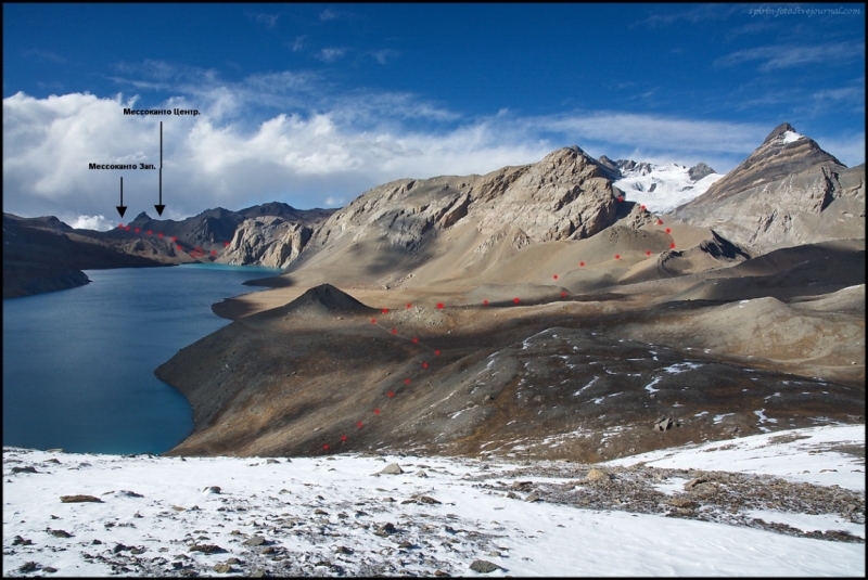
[[[864,460],[828,449],[837,444],[860,444],[864,456],[864,425],[778,431],[602,466],[647,462],[775,474],[864,493],[864,473],[852,472],[864,471]],[[713,447],[717,449],[704,451]],[[38,564],[29,573],[43,576],[49,566],[61,576],[107,576],[113,567],[125,576],[239,576],[256,570],[280,573],[281,566],[290,565],[294,573],[330,576],[435,570],[499,577],[865,575],[865,546],[859,543],[526,502],[478,487],[486,481],[511,484],[514,479],[503,472],[515,463],[412,455],[332,457],[182,461],[4,448],[4,575],[28,575],[18,571],[28,562]],[[51,459],[60,463],[48,463]],[[393,462],[405,473],[371,475]],[[39,473],[12,473],[13,467],[27,466]],[[427,477],[420,477],[420,471]],[[810,474],[796,473],[803,471]],[[210,486],[219,486],[219,493],[203,491]],[[103,503],[61,503],[61,495],[72,494],[94,495]],[[762,514],[766,519],[773,516]],[[828,517],[784,517],[793,526],[844,529]],[[387,523],[394,531],[383,530]],[[860,530],[850,526],[851,533],[865,537],[864,525]],[[64,530],[71,537],[47,530]],[[18,536],[33,544],[13,545]],[[245,545],[255,538],[264,543]],[[191,552],[194,544],[217,545],[225,552]],[[231,565],[232,571],[213,570],[232,557],[240,560]],[[476,559],[499,568],[473,571],[469,566]]]

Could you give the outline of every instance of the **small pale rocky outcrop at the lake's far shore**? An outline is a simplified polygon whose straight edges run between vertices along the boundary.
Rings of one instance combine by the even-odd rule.
[[[298,257],[312,232],[307,225],[273,216],[246,219],[217,261],[284,268]]]

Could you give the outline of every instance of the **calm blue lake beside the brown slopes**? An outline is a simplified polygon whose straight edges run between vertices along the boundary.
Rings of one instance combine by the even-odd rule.
[[[162,453],[190,435],[183,396],[154,376],[221,328],[210,305],[279,270],[220,265],[88,270],[90,284],[3,300],[3,444]]]

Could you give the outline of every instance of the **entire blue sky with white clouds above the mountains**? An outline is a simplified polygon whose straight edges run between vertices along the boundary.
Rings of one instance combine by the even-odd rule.
[[[275,199],[337,207],[394,179],[485,173],[572,144],[726,172],[783,121],[858,165],[864,10],[3,4],[3,209],[106,228],[123,176],[128,211],[153,217],[155,173],[87,167],[158,163],[159,120],[175,219]]]

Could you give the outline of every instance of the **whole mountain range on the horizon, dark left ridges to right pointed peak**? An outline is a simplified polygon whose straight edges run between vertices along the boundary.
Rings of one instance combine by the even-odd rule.
[[[593,159],[572,146],[485,176],[393,181],[342,209],[273,202],[180,221],[142,212],[107,232],[4,214],[3,296],[79,285],[88,268],[192,261],[316,266],[347,283],[387,286],[408,276],[432,282],[444,268],[427,265],[446,259],[446,278],[457,280],[529,245],[591,237],[615,224],[635,230],[664,214],[714,228],[744,249],[769,250],[864,237],[864,165],[846,168],[789,124],[726,176],[705,164]]]

